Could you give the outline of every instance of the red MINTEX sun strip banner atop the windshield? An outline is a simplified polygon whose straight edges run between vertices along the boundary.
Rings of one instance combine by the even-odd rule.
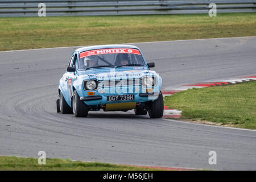
[[[138,49],[130,48],[113,48],[113,49],[97,49],[92,51],[85,51],[80,53],[80,58],[92,55],[104,55],[106,53],[134,53],[136,55],[141,55]]]

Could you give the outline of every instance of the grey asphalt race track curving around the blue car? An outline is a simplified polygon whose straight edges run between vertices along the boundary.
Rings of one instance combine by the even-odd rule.
[[[163,88],[255,75],[256,37],[137,43]],[[136,116],[56,113],[75,47],[0,52],[0,155],[200,169],[256,170],[256,131]],[[209,151],[217,164],[208,163]]]

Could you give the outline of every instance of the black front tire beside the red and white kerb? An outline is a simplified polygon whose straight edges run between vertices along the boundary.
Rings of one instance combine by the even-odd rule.
[[[158,98],[151,103],[150,110],[148,110],[148,114],[150,115],[150,118],[162,118],[163,110],[163,94],[162,92],[160,92]]]

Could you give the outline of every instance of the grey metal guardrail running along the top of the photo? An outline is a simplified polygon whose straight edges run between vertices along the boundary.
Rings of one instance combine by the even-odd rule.
[[[208,13],[209,3],[217,13],[256,12],[256,0],[0,0],[0,16],[38,16],[39,3],[47,16]]]

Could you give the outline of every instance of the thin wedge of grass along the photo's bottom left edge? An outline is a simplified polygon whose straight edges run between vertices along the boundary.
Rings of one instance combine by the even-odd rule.
[[[36,158],[18,158],[16,156],[0,156],[0,171],[7,170],[75,170],[75,171],[147,171],[159,170],[154,168],[125,166],[98,162],[73,162],[70,159],[46,159],[45,165],[39,165]]]

